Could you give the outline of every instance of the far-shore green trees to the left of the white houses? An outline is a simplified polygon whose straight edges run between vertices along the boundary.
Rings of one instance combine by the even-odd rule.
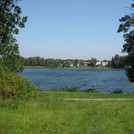
[[[91,58],[91,60],[79,60],[79,59],[44,59],[41,57],[21,57],[21,62],[24,66],[43,66],[43,67],[84,67],[84,62],[90,62],[89,66],[95,67],[97,59]]]

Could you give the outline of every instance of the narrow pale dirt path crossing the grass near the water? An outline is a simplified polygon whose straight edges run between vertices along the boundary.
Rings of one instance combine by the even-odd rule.
[[[80,99],[80,98],[65,98],[64,100],[74,100],[74,101],[88,101],[88,100],[92,100],[92,101],[109,101],[109,100],[116,100],[116,101],[123,101],[123,100],[134,100],[134,98],[102,98],[102,99]]]

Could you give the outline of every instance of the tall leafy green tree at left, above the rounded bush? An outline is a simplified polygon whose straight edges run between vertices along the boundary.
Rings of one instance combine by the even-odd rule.
[[[14,35],[19,33],[18,28],[25,27],[27,16],[22,17],[21,8],[17,6],[20,0],[0,0],[0,65],[11,71],[19,72],[19,47]]]

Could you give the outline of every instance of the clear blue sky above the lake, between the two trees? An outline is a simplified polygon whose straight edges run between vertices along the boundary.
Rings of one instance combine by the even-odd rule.
[[[111,59],[121,53],[119,18],[132,0],[22,0],[28,16],[16,36],[20,55],[60,59]]]

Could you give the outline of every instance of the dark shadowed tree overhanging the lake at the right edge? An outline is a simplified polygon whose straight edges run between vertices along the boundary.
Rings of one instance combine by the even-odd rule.
[[[130,7],[132,13],[125,15],[119,21],[121,22],[118,32],[124,32],[124,41],[122,52],[127,52],[126,75],[130,82],[134,82],[134,0]]]

